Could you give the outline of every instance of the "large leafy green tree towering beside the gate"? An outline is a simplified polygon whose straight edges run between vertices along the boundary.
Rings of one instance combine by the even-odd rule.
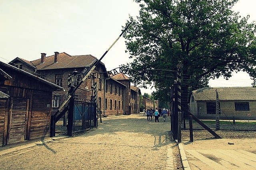
[[[210,78],[230,78],[245,71],[255,82],[255,22],[231,10],[238,0],[135,0],[140,15],[125,32],[127,52],[134,61],[133,83],[154,82],[154,96],[168,101],[179,62],[182,62],[182,105],[189,91],[208,86]],[[127,23],[128,24],[128,23]],[[140,80],[140,81],[139,81]],[[143,80],[143,81],[141,81]]]

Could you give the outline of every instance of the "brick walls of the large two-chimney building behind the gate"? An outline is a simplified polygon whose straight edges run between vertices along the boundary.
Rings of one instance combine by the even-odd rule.
[[[93,72],[104,72],[103,67],[104,66],[100,66],[99,68],[97,68],[98,70],[94,70]],[[78,73],[80,73],[83,70],[83,68],[76,68],[76,70],[78,71]],[[54,96],[61,96],[61,102],[63,103],[66,97],[68,96],[68,85],[67,85],[68,75],[72,74],[73,71],[74,71],[74,68],[38,70],[37,74],[45,75],[46,80],[54,84],[56,84],[56,74],[62,75],[62,87],[65,89],[65,91],[57,90],[53,92],[52,100],[54,100],[55,98]],[[102,74],[101,78],[94,78],[94,80],[87,79],[81,84],[80,88],[85,89],[87,87],[88,89],[90,89],[92,86],[92,81],[96,82],[97,88],[98,88],[98,109],[102,110],[102,114],[104,114],[104,112],[106,115],[124,114],[124,107],[127,105],[124,102],[123,91],[126,91],[126,87],[122,85],[120,82],[117,82],[112,79],[106,79],[106,77],[107,77],[106,74]],[[107,92],[105,91],[105,79],[108,84]],[[101,85],[100,85],[100,82],[101,82]],[[110,84],[112,84],[112,93],[110,93]],[[117,91],[115,91],[115,87],[117,88],[116,89]],[[120,95],[119,95],[119,88],[120,88]],[[86,92],[84,90],[78,89],[76,90],[75,95],[80,98],[86,98],[90,100],[92,91]],[[107,99],[107,102],[108,102],[107,108],[105,108],[105,98]],[[112,100],[112,108],[110,108],[110,100]],[[126,97],[126,100],[127,100],[127,97]],[[115,108],[115,101],[116,101],[116,108]],[[119,107],[119,103],[120,103],[120,107]],[[122,107],[122,104],[124,105],[123,107]],[[58,110],[58,107],[53,107],[52,114],[56,113],[57,110]]]

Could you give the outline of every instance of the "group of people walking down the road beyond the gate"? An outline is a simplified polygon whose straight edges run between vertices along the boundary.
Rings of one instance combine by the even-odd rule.
[[[159,117],[163,117],[164,118],[164,122],[166,122],[166,117],[170,116],[170,110],[166,110],[165,108],[163,110],[161,110],[159,108],[156,108],[156,110],[153,110],[152,108],[147,109],[144,111],[143,116],[146,115],[147,116],[147,120],[148,121],[152,121],[152,118],[155,118],[155,122],[159,122]]]

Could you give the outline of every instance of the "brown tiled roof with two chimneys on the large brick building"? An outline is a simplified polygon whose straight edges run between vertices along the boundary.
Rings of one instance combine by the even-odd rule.
[[[54,63],[54,55],[45,58],[45,62],[41,63],[41,58],[31,61],[37,70],[48,70],[58,68],[78,68],[88,67],[94,60],[98,60],[92,55],[70,56],[69,54],[62,52],[58,54],[58,62]]]

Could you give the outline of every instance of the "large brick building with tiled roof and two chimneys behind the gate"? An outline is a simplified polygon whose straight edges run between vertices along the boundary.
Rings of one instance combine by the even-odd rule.
[[[68,95],[68,75],[72,74],[74,70],[76,70],[78,74],[81,73],[84,68],[89,68],[97,60],[98,59],[92,55],[71,56],[65,52],[54,52],[54,55],[47,57],[45,53],[41,53],[40,59],[31,62],[21,58],[15,58],[9,64],[27,72],[34,73],[40,78],[48,80],[65,89],[64,92],[61,90],[53,92],[52,114],[54,114]],[[132,90],[133,100],[131,104],[131,86],[127,76],[117,74],[109,78],[106,67],[102,62],[96,66],[90,75],[90,78],[86,79],[81,84],[80,88],[76,90],[76,97],[90,100],[92,92],[87,92],[85,89],[90,90],[92,85],[97,82],[98,109],[102,110],[102,114],[116,115],[139,112],[139,101],[136,96],[138,96],[140,90]],[[79,80],[81,76],[82,75],[77,75],[75,79]],[[74,82],[75,85],[78,83],[79,81]]]

